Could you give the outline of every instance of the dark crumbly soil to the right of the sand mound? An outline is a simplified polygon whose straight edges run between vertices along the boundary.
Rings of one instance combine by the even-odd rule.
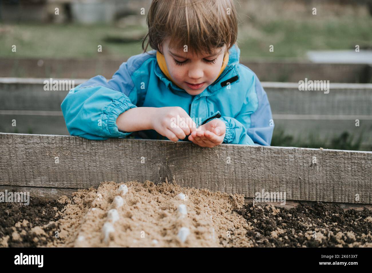
[[[236,210],[253,227],[255,247],[372,247],[372,211],[316,202],[292,209],[253,206]]]

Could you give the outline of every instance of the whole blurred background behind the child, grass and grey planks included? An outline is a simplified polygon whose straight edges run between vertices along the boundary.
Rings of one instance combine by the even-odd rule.
[[[40,83],[6,78],[86,79],[101,74],[109,79],[128,57],[142,52],[147,26],[140,9],[147,14],[150,3],[1,1],[0,131],[68,134],[58,109],[64,93],[45,94]],[[267,85],[275,122],[272,145],[371,151],[372,1],[241,0],[238,13],[240,61],[261,81],[365,84],[311,95]],[[322,61],[329,51],[339,54],[336,62]]]

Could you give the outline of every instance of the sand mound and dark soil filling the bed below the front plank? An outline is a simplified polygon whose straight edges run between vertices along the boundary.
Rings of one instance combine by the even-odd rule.
[[[123,193],[121,184],[102,183],[70,199],[33,197],[29,206],[0,203],[1,246],[372,247],[369,209],[253,205],[242,195],[150,181],[125,183]]]

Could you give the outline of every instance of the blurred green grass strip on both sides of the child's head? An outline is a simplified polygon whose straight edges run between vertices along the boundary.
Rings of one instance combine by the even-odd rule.
[[[371,29],[370,16],[251,20],[240,24],[238,45],[242,58],[303,58],[309,50],[354,49],[357,44],[361,48],[372,48]],[[146,31],[142,26],[119,28],[102,24],[0,24],[0,57],[131,56],[142,52],[142,42],[119,41],[138,33],[145,35]],[[17,46],[17,52],[12,52],[12,45]],[[102,45],[102,52],[97,51],[98,45]],[[269,52],[270,45],[274,45],[274,52]]]

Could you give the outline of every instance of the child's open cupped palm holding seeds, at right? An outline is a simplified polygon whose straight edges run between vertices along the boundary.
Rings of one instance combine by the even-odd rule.
[[[199,128],[201,129],[199,131]],[[221,119],[211,121],[199,126],[198,131],[193,131],[189,135],[189,140],[201,147],[215,147],[224,141],[226,125]]]

